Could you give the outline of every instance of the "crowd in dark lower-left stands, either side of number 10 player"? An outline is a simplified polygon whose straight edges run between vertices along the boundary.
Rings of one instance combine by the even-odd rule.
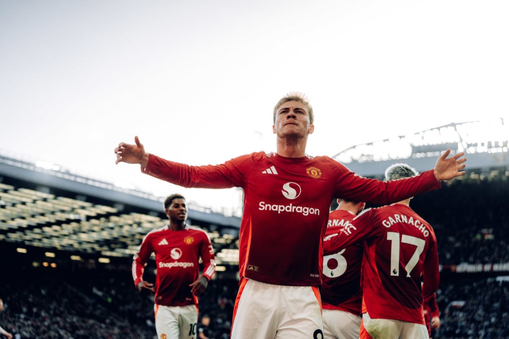
[[[212,338],[230,337],[236,280],[213,280],[200,298]],[[0,324],[17,339],[156,339],[153,295],[140,294],[130,271],[16,272],[0,288]]]

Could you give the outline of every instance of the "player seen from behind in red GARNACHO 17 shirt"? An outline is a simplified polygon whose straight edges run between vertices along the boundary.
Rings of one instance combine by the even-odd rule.
[[[415,175],[405,164],[385,172],[387,180]],[[429,337],[422,301],[440,282],[437,239],[433,228],[410,208],[410,199],[366,209],[352,227],[324,241],[337,246],[365,241],[361,339]]]

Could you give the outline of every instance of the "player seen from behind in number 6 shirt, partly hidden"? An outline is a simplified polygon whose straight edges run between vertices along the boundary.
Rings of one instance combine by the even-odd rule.
[[[327,236],[348,230],[352,220],[365,206],[364,202],[337,199],[337,208],[329,213]],[[362,306],[360,269],[364,245],[348,248],[323,243],[322,320],[325,339],[358,339]]]

